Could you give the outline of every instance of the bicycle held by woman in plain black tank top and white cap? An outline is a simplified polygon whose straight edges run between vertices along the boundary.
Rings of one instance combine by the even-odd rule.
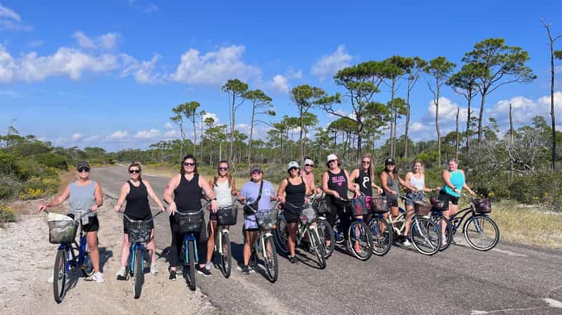
[[[293,207],[294,209],[299,208],[291,203],[287,205]],[[277,245],[282,252],[287,254],[289,252],[287,239],[287,221],[285,221],[285,212],[282,211],[279,214],[279,227],[275,229],[275,240],[277,240]],[[296,228],[296,246],[301,245],[305,237],[308,237],[309,250],[316,255],[318,260],[318,266],[320,269],[326,268],[326,253],[325,245],[320,242],[320,236],[318,234],[318,229],[316,226],[317,221],[316,210],[311,207],[310,203],[305,203],[301,207],[301,214],[299,215],[299,223]]]

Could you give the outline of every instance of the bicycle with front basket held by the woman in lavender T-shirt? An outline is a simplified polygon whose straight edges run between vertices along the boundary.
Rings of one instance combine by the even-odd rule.
[[[254,244],[251,245],[253,251],[263,256],[263,265],[266,268],[266,276],[271,283],[275,283],[279,278],[279,265],[277,262],[277,250],[275,249],[275,240],[272,231],[277,228],[277,217],[279,210],[277,207],[266,210],[255,210],[248,203],[240,201],[242,205],[248,206],[248,209],[254,213],[256,224],[258,225],[258,237]],[[275,203],[276,205],[277,203]],[[246,234],[244,233],[244,243],[246,243]]]

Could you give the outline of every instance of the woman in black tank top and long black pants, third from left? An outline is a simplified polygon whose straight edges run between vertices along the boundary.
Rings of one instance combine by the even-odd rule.
[[[180,174],[170,179],[166,190],[164,191],[164,200],[170,204],[168,212],[170,212],[170,229],[172,230],[172,245],[168,259],[170,261],[170,280],[175,281],[177,278],[176,266],[182,264],[179,255],[183,246],[183,233],[179,233],[177,222],[174,218],[176,210],[181,212],[197,212],[201,210],[201,195],[205,192],[211,199],[211,211],[216,212],[218,209],[217,198],[215,192],[209,186],[208,181],[197,172],[197,163],[194,155],[188,154],[182,160]],[[172,193],[174,196],[172,198]],[[205,222],[203,222],[204,226]],[[199,268],[197,272],[204,276],[211,276],[205,268],[204,255],[206,246],[204,245],[205,232],[195,233],[197,242],[197,252],[199,253]]]

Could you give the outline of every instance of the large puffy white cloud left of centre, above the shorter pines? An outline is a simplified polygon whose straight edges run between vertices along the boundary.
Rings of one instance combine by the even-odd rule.
[[[246,47],[220,47],[201,55],[196,49],[189,49],[182,57],[170,79],[186,84],[224,84],[228,79],[259,79],[260,68],[247,65],[241,58]]]

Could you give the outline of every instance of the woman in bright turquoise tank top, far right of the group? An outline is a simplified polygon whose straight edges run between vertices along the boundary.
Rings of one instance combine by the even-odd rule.
[[[448,169],[444,169],[441,178],[443,179],[443,187],[439,191],[438,200],[449,203],[449,210],[444,211],[443,215],[449,219],[454,216],[458,210],[458,197],[461,197],[461,192],[465,188],[470,195],[475,195],[474,191],[468,187],[466,184],[466,177],[462,169],[458,169],[458,162],[456,159],[451,158],[447,163]],[[445,228],[447,226],[443,225],[442,233],[443,238],[445,236]]]

